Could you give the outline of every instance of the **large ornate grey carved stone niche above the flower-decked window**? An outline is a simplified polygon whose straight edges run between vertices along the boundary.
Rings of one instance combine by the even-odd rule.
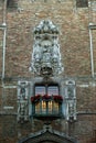
[[[31,70],[38,76],[54,76],[63,72],[58,29],[50,20],[43,20],[34,29]]]

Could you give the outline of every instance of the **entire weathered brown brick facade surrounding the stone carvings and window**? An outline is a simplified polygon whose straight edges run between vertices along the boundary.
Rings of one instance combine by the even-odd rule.
[[[33,29],[41,20],[50,19],[60,29],[60,45],[64,64],[63,79],[76,81],[77,120],[58,119],[55,130],[75,138],[79,143],[96,142],[96,77],[92,76],[89,23],[96,24],[96,2],[77,8],[76,0],[18,0],[18,8],[7,9],[6,78],[0,80],[0,143],[18,140],[42,129],[43,121],[17,122],[17,82],[30,80],[29,72]],[[3,1],[0,2],[0,25],[3,22]],[[93,30],[94,72],[96,72],[96,31]],[[3,30],[0,29],[0,77],[2,76]],[[95,75],[95,74],[94,74]],[[4,82],[4,86],[3,86]],[[10,86],[7,88],[7,86]],[[13,86],[13,87],[11,87]],[[3,109],[3,107],[13,109]]]

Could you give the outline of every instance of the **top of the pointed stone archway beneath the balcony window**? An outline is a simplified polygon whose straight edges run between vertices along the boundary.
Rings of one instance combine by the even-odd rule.
[[[77,141],[64,133],[52,129],[44,129],[28,138],[22,139],[19,143],[77,143]]]

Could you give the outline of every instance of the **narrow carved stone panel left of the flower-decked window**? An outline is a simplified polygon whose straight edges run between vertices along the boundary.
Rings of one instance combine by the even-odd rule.
[[[29,120],[29,95],[28,81],[18,82],[18,117],[19,122]]]

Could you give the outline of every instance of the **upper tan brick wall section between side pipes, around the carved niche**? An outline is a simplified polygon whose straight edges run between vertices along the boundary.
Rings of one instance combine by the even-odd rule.
[[[65,75],[90,75],[88,9],[74,10],[72,1],[62,3],[22,1],[20,7],[21,12],[7,14],[6,75],[29,75],[33,44],[32,30],[42,19],[51,19],[60,28]],[[75,66],[72,66],[74,62]]]

